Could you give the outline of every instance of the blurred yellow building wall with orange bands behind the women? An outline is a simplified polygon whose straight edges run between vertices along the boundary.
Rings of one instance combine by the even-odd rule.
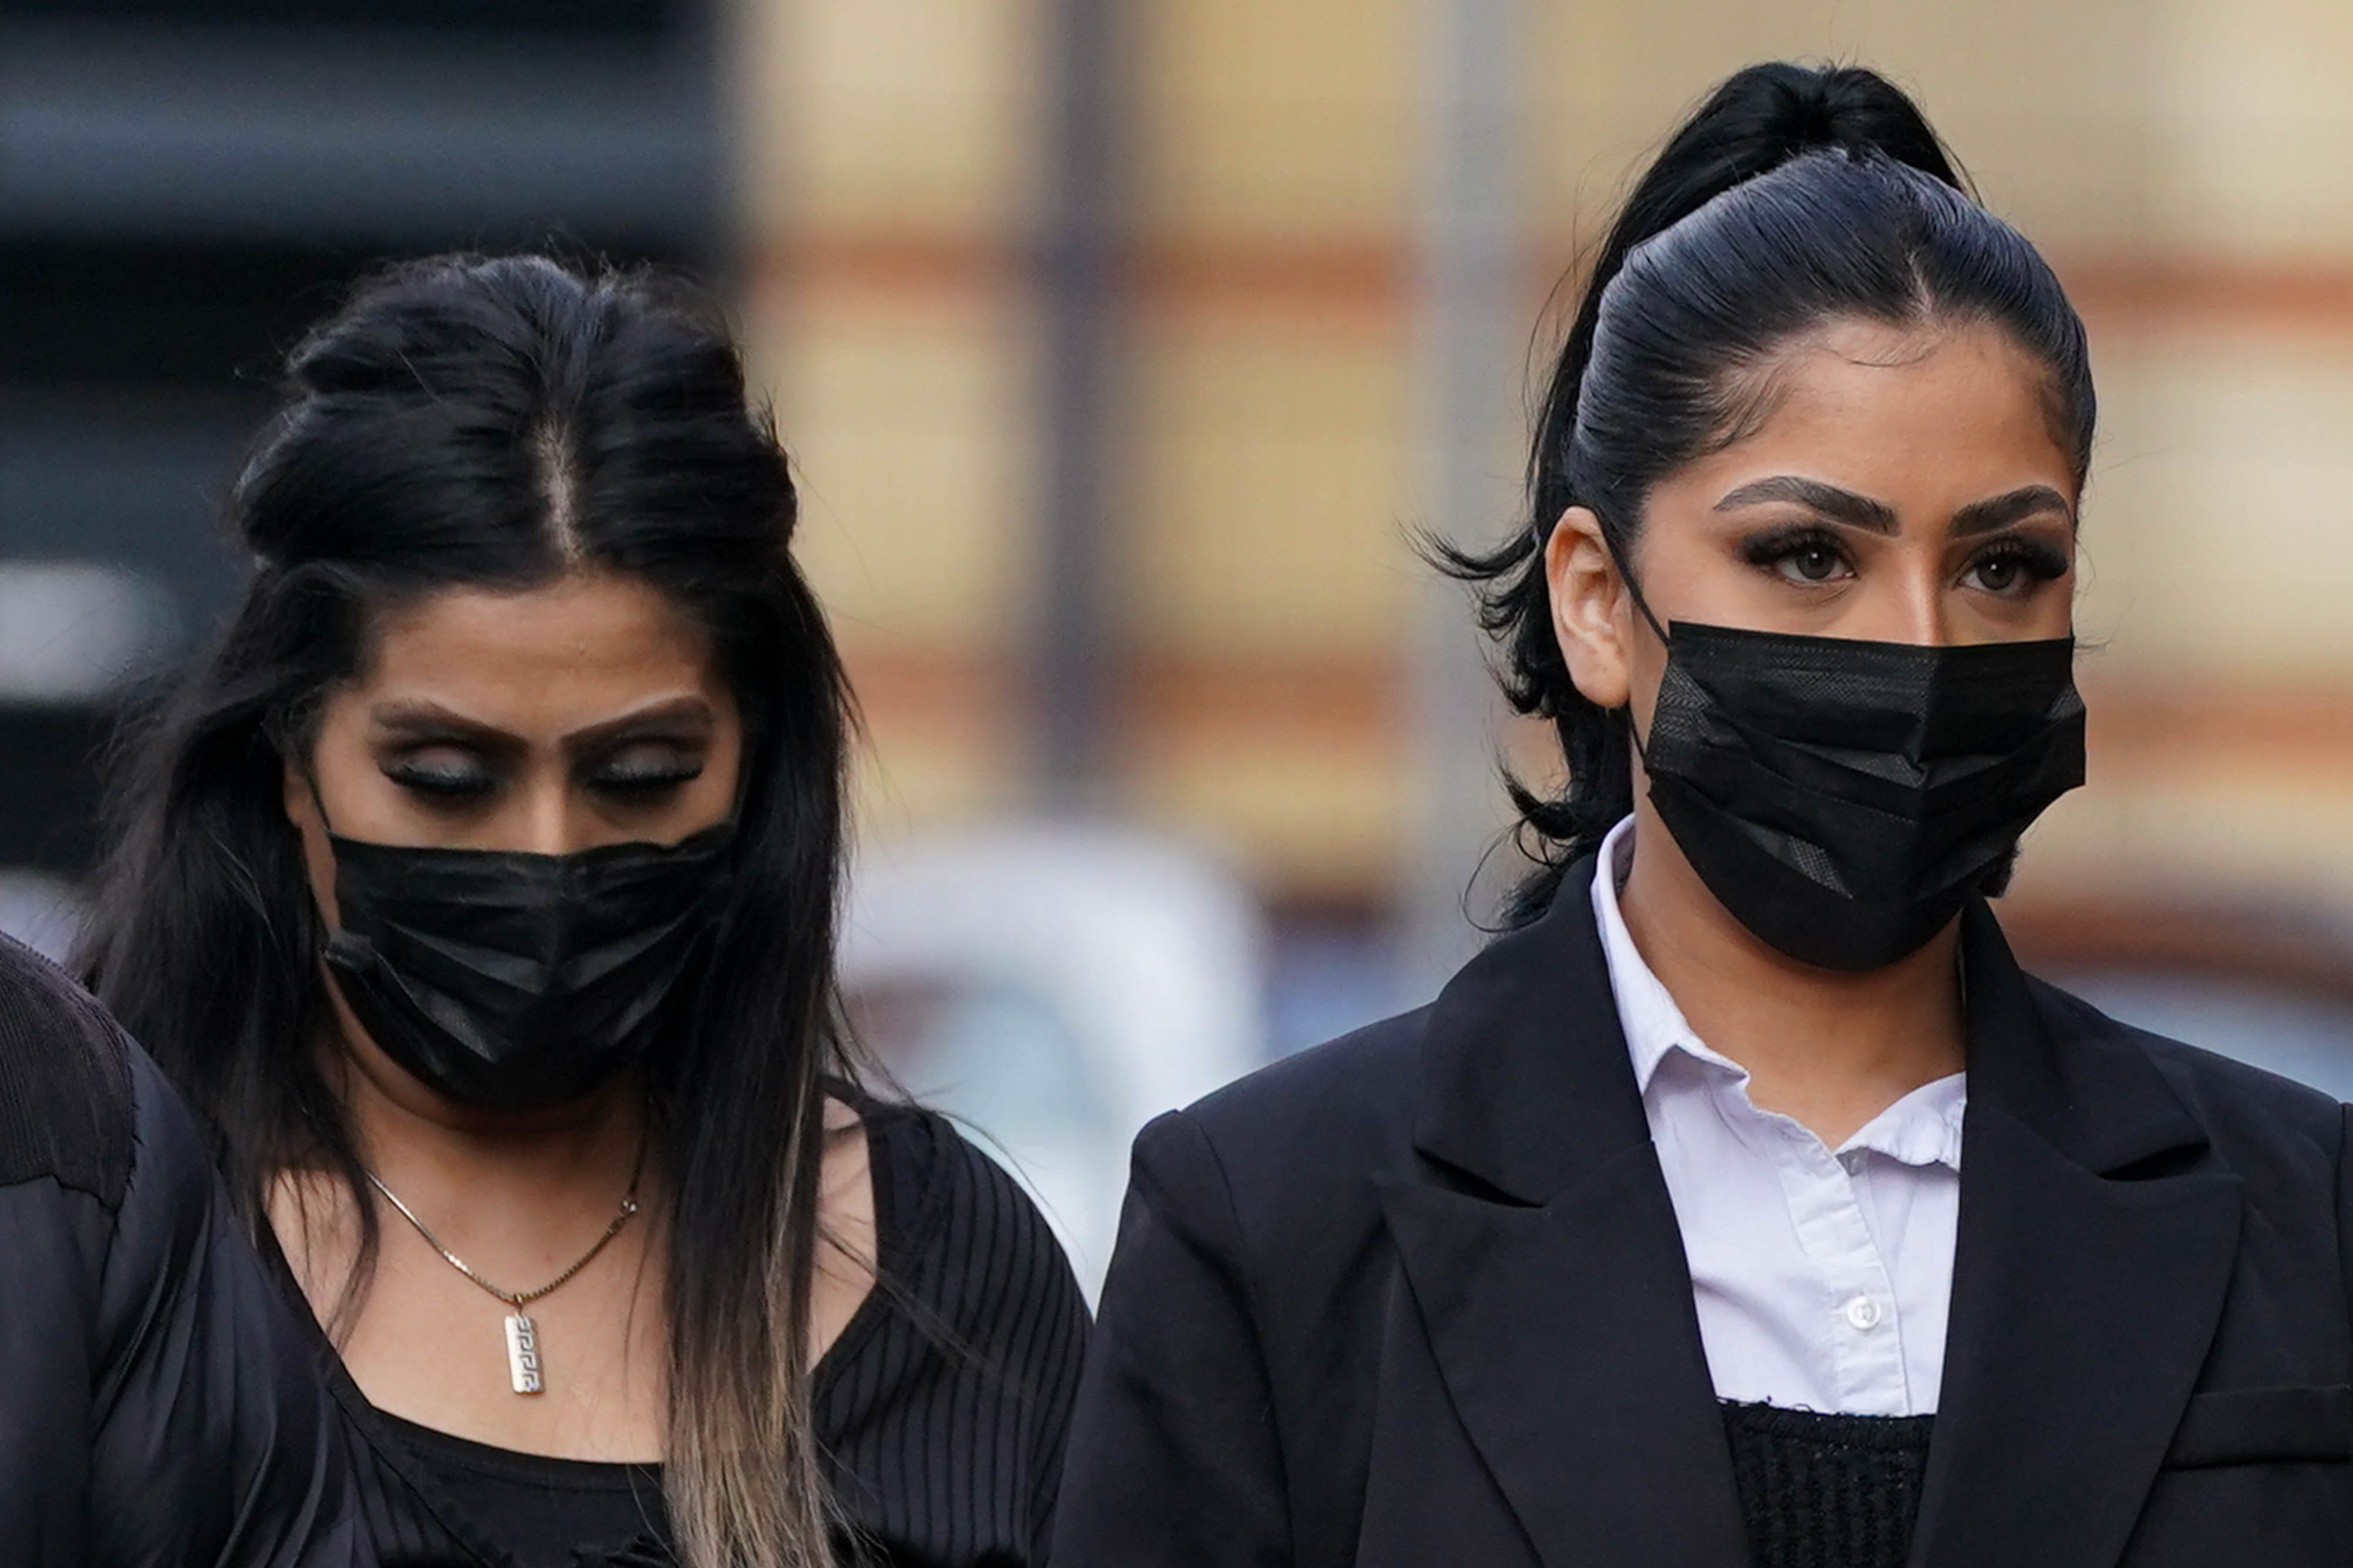
[[[1475,505],[1433,480],[1426,301],[1433,59],[1461,0],[739,0],[744,308],[873,724],[868,832],[1040,799],[1052,63],[1101,9],[1104,809],[1214,846],[1278,910],[1384,917],[1419,844],[1489,832],[1497,792],[1417,745],[1419,665],[1468,654],[1428,635],[1412,529],[1513,527],[1548,294],[1673,120],[1753,59],[1861,61],[1920,94],[2094,334],[2092,785],[2038,830],[2021,926],[2068,959],[2195,907],[2195,950],[2259,907],[2327,969],[2353,910],[2339,0],[1489,5],[1515,63],[1492,85],[1501,331],[1527,353]],[[1482,724],[1544,766],[1541,736],[1492,703]]]

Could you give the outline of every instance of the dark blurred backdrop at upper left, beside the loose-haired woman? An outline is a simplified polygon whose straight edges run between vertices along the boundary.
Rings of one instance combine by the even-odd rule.
[[[0,0],[0,929],[71,929],[94,755],[233,604],[219,498],[353,277],[725,261],[715,42],[696,0]]]

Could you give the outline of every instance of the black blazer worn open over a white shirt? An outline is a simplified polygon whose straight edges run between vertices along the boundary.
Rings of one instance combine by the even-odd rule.
[[[1586,896],[1136,1140],[1056,1568],[1739,1568]],[[2346,1110],[1962,919],[1969,1110],[1915,1568],[2353,1563]]]

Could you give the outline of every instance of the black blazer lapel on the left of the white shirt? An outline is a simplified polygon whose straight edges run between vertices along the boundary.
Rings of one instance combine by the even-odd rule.
[[[1548,1568],[1739,1568],[1739,1497],[1673,1201],[1586,886],[1431,1011],[1417,1145],[1384,1192],[1447,1394]]]

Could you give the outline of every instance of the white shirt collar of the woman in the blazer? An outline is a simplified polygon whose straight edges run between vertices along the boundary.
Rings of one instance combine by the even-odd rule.
[[[1633,945],[1626,917],[1619,912],[1619,884],[1633,867],[1633,816],[1626,816],[1609,837],[1602,839],[1593,858],[1593,922],[1602,938],[1602,959],[1609,964],[1609,994],[1617,1001],[1619,1027],[1626,1034],[1626,1053],[1633,1058],[1633,1079],[1649,1098],[1649,1084],[1659,1065],[1671,1053],[1682,1053],[1718,1074],[1729,1074],[1739,1084],[1741,1103],[1748,1103],[1748,1070],[1720,1051],[1711,1051],[1692,1032],[1682,1009],[1668,994],[1659,976],[1642,961],[1642,950]],[[1873,1150],[1906,1166],[1953,1166],[1960,1168],[1960,1124],[1969,1103],[1967,1074],[1951,1074],[1913,1088],[1908,1095],[1866,1121],[1835,1152]],[[1758,1112],[1765,1114],[1765,1112]]]

